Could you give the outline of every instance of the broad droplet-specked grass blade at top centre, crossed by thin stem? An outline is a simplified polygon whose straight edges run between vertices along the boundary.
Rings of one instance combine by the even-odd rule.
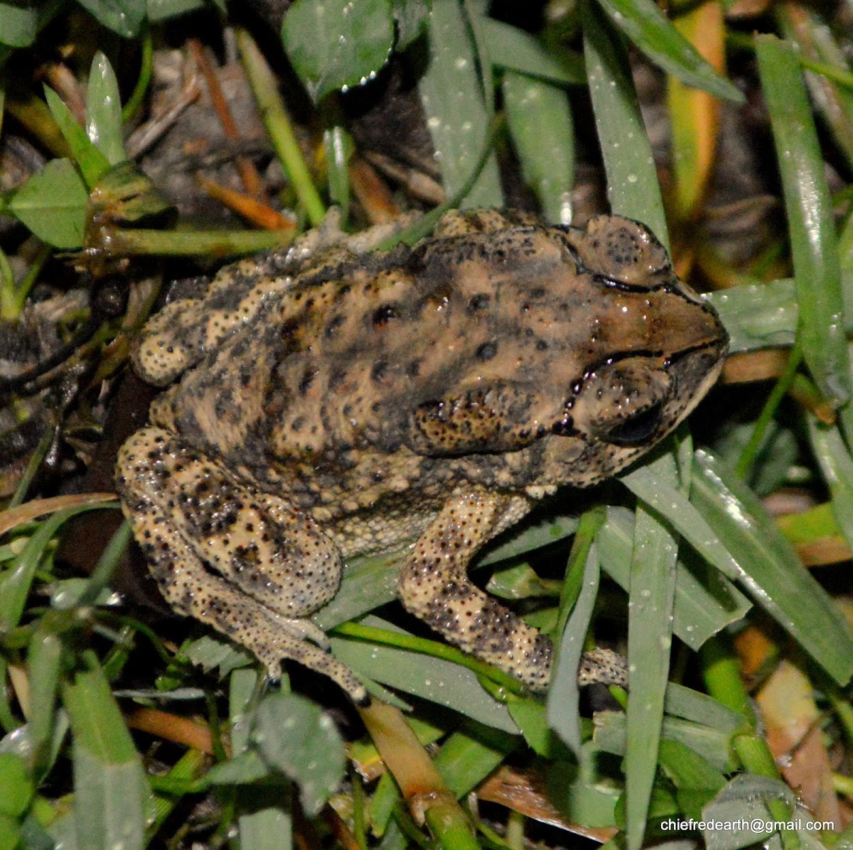
[[[418,83],[442,183],[448,198],[465,184],[486,141],[490,123],[477,55],[467,21],[456,0],[434,0],[430,18],[431,56]],[[499,207],[503,203],[497,162],[491,155],[463,207]]]

